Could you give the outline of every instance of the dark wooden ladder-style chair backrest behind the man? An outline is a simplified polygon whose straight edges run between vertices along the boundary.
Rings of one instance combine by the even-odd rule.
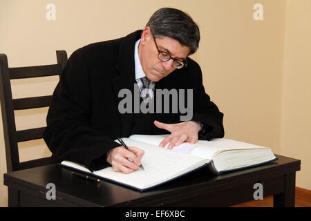
[[[46,127],[17,131],[14,114],[15,110],[50,106],[52,95],[13,99],[10,80],[53,75],[60,76],[67,61],[67,53],[65,50],[57,50],[56,55],[57,64],[8,68],[7,56],[5,54],[0,54],[0,102],[8,172],[43,166],[52,162],[51,157],[43,157],[26,162],[19,161],[18,143],[43,138],[43,132]]]

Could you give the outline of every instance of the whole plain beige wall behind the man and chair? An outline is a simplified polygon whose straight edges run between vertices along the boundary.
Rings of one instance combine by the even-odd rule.
[[[56,6],[55,21],[46,20],[48,3]],[[255,3],[263,5],[263,21],[253,19]],[[122,37],[143,28],[162,7],[189,12],[200,27],[200,48],[192,57],[202,68],[205,90],[225,113],[225,137],[301,159],[296,184],[311,189],[310,0],[1,0],[0,53],[8,55],[9,66],[55,63],[55,50],[70,55],[86,44]],[[12,84],[14,97],[46,95],[57,80]],[[19,129],[46,125],[44,108],[16,114]],[[20,148],[22,160],[50,154],[42,141]],[[0,125],[1,174],[5,162]],[[0,206],[6,206],[2,175],[0,183]]]

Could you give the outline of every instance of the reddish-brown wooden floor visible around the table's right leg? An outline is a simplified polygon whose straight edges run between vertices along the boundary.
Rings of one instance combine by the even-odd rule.
[[[273,207],[273,195],[263,200],[253,200],[231,207]],[[295,207],[311,207],[311,191],[296,187]]]

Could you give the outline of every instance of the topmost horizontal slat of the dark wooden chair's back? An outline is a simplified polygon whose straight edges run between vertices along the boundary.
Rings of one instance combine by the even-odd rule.
[[[51,64],[42,66],[9,68],[9,72],[10,72],[10,79],[48,77],[53,75],[60,75],[62,73],[62,65]]]

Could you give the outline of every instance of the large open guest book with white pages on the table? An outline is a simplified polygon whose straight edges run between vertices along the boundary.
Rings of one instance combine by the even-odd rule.
[[[131,135],[122,138],[129,148],[136,146],[144,150],[144,171],[138,169],[124,174],[108,167],[91,173],[85,166],[75,162],[63,161],[61,165],[144,191],[202,166],[209,166],[213,173],[221,174],[277,160],[270,148],[227,139],[199,140],[196,144],[183,143],[168,150],[168,145],[159,147],[165,137],[167,135]]]

